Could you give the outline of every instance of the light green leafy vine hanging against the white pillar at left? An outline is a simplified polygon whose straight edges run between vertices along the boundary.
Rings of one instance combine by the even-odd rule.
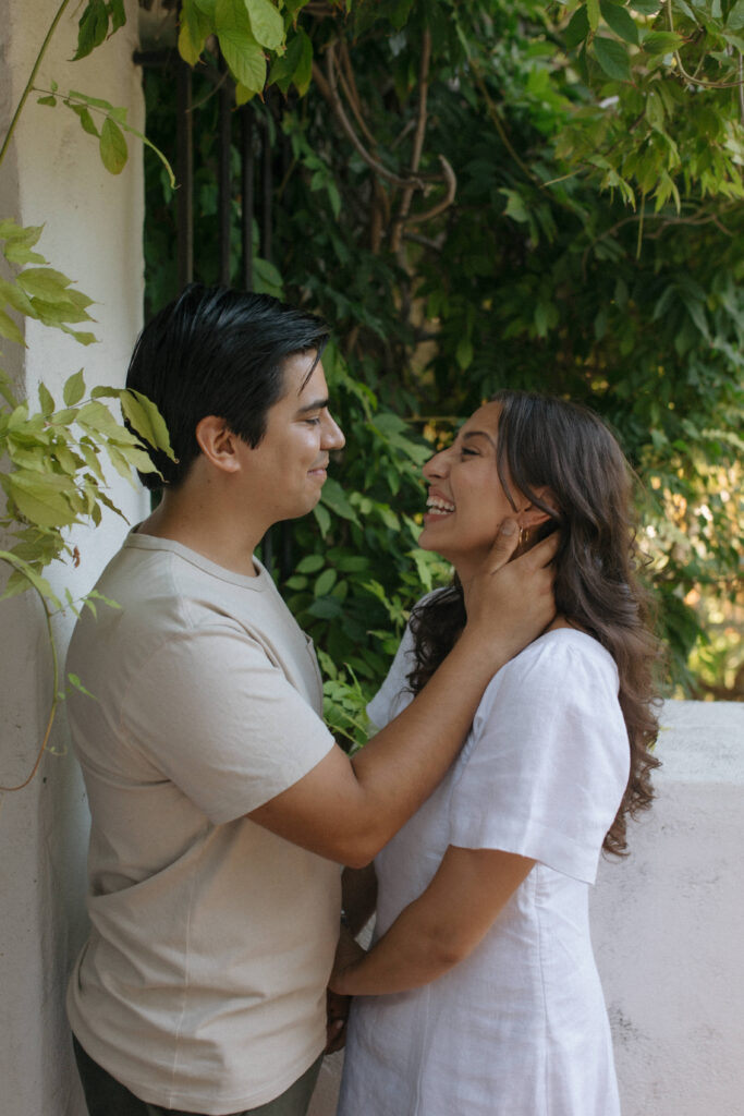
[[[45,36],[0,146],[0,165],[30,93],[45,94],[40,98],[42,104],[51,107],[57,104],[56,83],[50,90],[36,89],[33,83],[68,3],[69,0],[62,0]],[[109,20],[113,33],[124,25],[125,19],[123,0],[90,0],[80,18],[75,57],[85,57],[107,37]],[[76,92],[59,95],[59,99],[76,113],[85,132],[98,137],[103,163],[112,173],[118,173],[126,163],[124,133],[128,132],[153,147],[166,166],[172,185],[175,185],[167,161],[127,123],[125,108]],[[104,117],[100,132],[94,124],[91,112]],[[42,225],[21,227],[10,218],[0,220],[0,253],[10,270],[10,278],[0,279],[0,338],[26,346],[22,327],[13,316],[20,315],[21,318],[60,329],[81,345],[90,345],[96,340],[95,335],[76,327],[93,321],[88,308],[94,300],[77,290],[61,271],[49,267],[45,257],[36,250],[42,231]],[[16,395],[11,377],[0,368],[0,459],[9,463],[9,468],[0,474],[0,490],[4,496],[0,529],[4,538],[11,540],[9,547],[0,549],[0,562],[11,570],[0,600],[28,589],[37,594],[52,660],[51,706],[35,763],[22,782],[2,786],[0,791],[22,790],[35,777],[49,742],[59,702],[65,698],[59,689],[59,656],[52,627],[54,612],[60,610],[62,605],[42,570],[56,559],[67,558],[74,565],[78,564],[77,548],[71,548],[67,538],[70,527],[84,522],[99,523],[104,508],[123,516],[108,496],[106,460],[132,482],[133,469],[148,472],[155,468],[145,443],[173,456],[163,419],[154,404],[138,392],[96,387],[85,398],[83,369],[67,378],[62,407],[57,407],[45,384],[39,385],[38,392],[39,410],[32,412],[28,401]],[[128,429],[114,417],[100,402],[102,398],[118,400]],[[81,604],[95,613],[96,597],[100,595],[93,590]],[[68,607],[78,612],[69,590],[66,590],[66,602]],[[115,602],[105,603],[118,607]],[[68,675],[68,684],[87,693],[75,675]]]

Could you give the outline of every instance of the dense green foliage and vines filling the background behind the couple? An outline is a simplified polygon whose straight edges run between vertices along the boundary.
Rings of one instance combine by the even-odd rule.
[[[302,8],[312,81],[292,85],[288,48],[281,96],[255,102],[283,166],[263,289],[335,328],[347,449],[283,586],[335,695],[377,684],[407,608],[446,575],[416,548],[419,466],[500,386],[586,402],[618,433],[669,680],[689,692],[706,638],[690,602],[734,597],[740,561],[742,0]],[[165,144],[156,77],[148,100]],[[214,281],[209,97],[203,112],[197,272]],[[166,194],[151,174],[157,304]]]

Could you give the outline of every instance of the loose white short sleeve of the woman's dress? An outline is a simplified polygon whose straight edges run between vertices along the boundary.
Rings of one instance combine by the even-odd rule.
[[[451,800],[450,843],[593,883],[628,779],[615,663],[582,633],[537,641],[493,679]]]

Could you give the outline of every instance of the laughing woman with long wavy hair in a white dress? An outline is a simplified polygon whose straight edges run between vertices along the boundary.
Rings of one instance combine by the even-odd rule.
[[[376,860],[373,947],[339,950],[331,980],[359,997],[339,1116],[615,1116],[588,892],[658,762],[629,470],[590,412],[501,392],[424,474],[419,546],[455,583],[414,609],[373,721],[457,638],[462,585],[504,518],[522,550],[559,529],[558,615],[494,676],[460,758]],[[347,883],[359,924],[368,889]]]

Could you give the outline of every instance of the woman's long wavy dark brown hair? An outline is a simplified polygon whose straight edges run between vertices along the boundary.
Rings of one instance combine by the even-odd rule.
[[[586,407],[531,392],[502,391],[497,403],[496,470],[506,498],[513,491],[548,513],[534,541],[558,528],[554,559],[558,614],[593,636],[615,660],[619,700],[630,741],[630,776],[618,815],[605,838],[608,853],[627,848],[628,815],[650,806],[649,752],[658,733],[655,666],[659,644],[650,629],[648,594],[636,577],[631,474],[617,441]],[[554,501],[537,491],[547,487]],[[465,624],[463,593],[454,584],[418,605],[412,616],[416,665],[414,693],[451,651]]]

